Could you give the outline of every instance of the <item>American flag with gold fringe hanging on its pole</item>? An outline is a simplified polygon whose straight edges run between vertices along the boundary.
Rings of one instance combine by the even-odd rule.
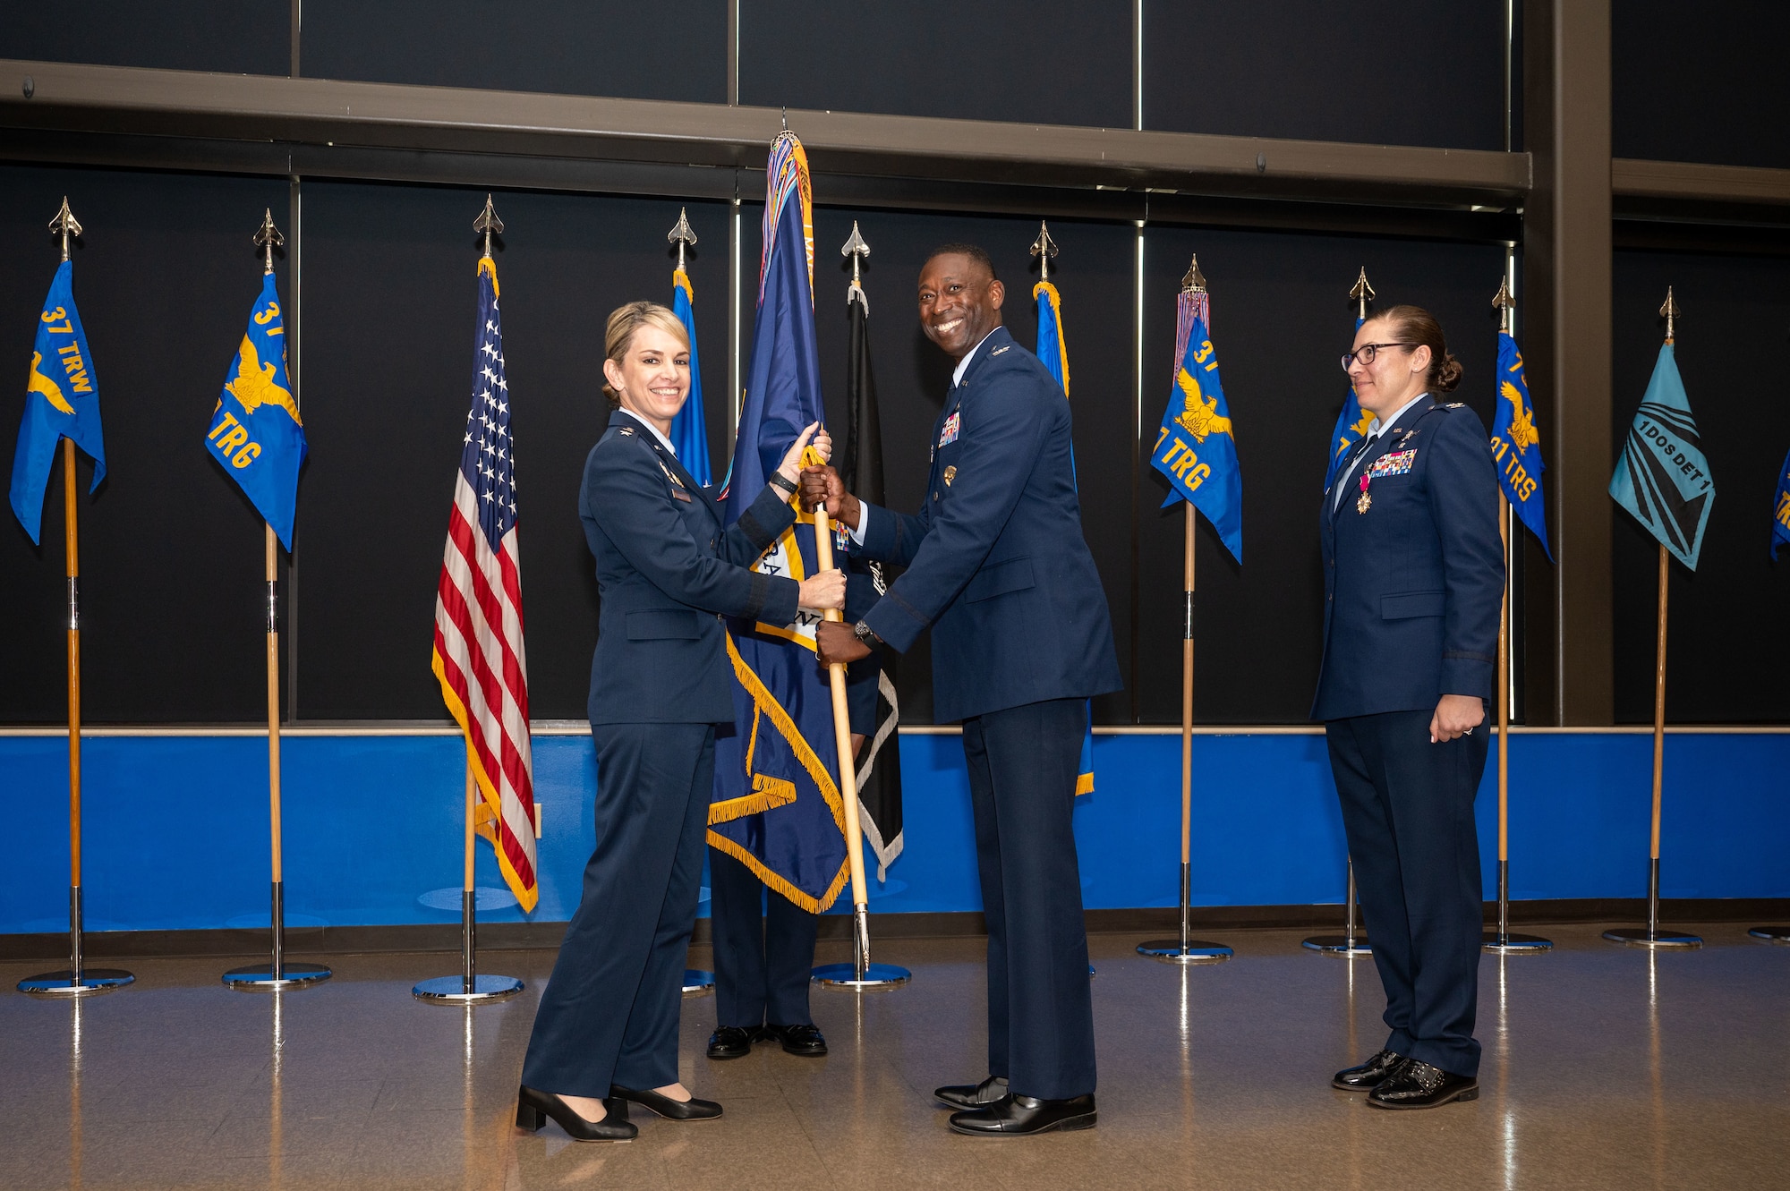
[[[528,746],[523,567],[516,545],[516,440],[503,377],[498,265],[478,263],[478,347],[448,549],[435,588],[435,676],[465,733],[498,866],[524,910],[535,908],[535,792]],[[485,833],[483,830],[480,832]]]

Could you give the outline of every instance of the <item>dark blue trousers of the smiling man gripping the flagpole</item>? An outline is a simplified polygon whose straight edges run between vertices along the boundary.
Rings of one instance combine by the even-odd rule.
[[[988,917],[988,1073],[1015,1094],[1094,1091],[1094,998],[1070,812],[1085,699],[963,721]]]

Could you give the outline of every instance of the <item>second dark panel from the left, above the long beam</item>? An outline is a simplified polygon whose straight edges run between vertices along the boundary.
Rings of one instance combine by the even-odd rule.
[[[313,79],[727,102],[725,0],[306,0]]]

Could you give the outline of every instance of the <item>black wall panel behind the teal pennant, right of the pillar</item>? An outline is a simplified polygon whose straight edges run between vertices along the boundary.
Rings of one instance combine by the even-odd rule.
[[[1790,351],[1790,261],[1618,252],[1611,467],[1647,392],[1674,288],[1677,365],[1715,477],[1715,506],[1697,570],[1672,560],[1666,719],[1786,722],[1790,642],[1779,631],[1790,558],[1767,542],[1777,467],[1790,449],[1790,408],[1760,363]],[[1763,381],[1763,384],[1761,384]],[[1543,443],[1547,445],[1547,443]],[[1616,721],[1652,722],[1659,545],[1632,515],[1615,517]]]

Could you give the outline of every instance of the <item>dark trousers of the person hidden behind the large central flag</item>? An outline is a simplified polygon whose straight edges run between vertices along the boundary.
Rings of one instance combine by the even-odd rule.
[[[766,889],[752,869],[709,848],[716,1025],[814,1025],[807,985],[820,916]]]

